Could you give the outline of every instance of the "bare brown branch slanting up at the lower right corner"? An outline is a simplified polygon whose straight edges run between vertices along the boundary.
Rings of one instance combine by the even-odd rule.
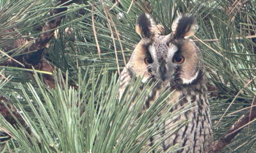
[[[256,104],[256,101],[254,99],[253,105]],[[231,140],[244,128],[244,126],[247,126],[251,122],[253,122],[254,118],[256,117],[256,108],[251,107],[250,110],[246,111],[243,116],[241,116],[233,125],[232,127],[227,131],[225,135],[223,135],[220,140],[214,142],[214,144],[209,149],[208,153],[217,153],[220,152],[221,149],[223,149],[226,145],[228,145]]]

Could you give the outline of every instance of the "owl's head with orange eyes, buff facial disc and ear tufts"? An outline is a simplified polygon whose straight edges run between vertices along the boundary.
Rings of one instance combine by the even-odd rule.
[[[141,41],[132,53],[130,68],[137,76],[144,76],[143,82],[153,78],[164,86],[195,84],[202,77],[202,55],[188,38],[197,28],[195,17],[182,15],[173,21],[172,33],[164,36],[150,15],[140,15],[136,33]]]

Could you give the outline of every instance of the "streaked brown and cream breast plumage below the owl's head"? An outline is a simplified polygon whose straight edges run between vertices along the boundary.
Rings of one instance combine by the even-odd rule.
[[[153,89],[148,98],[145,99],[145,109],[153,105],[156,99],[164,92],[166,88]],[[207,99],[207,90],[204,85],[193,88],[184,88],[180,90],[171,90],[173,93],[166,103],[173,105],[170,112],[177,110],[178,112],[184,112],[179,116],[172,116],[172,118],[164,122],[163,127],[168,131],[167,133],[173,133],[173,124],[188,120],[188,124],[183,126],[173,135],[170,135],[164,143],[157,148],[157,150],[168,150],[175,144],[179,144],[178,148],[184,147],[184,149],[177,151],[179,152],[204,152],[206,148],[212,142],[212,129],[211,129],[211,115],[209,110],[209,103]],[[205,91],[206,90],[206,91]],[[190,105],[190,106],[189,106]],[[163,109],[159,115],[166,111],[168,107]],[[185,109],[185,110],[184,110]],[[164,131],[164,135],[166,135]],[[161,135],[156,136],[156,138]]]

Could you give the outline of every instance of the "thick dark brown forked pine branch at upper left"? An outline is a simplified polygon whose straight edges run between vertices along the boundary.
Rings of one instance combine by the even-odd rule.
[[[45,59],[43,56],[44,48],[51,40],[52,36],[54,35],[54,29],[58,27],[61,23],[61,19],[64,17],[65,11],[67,11],[67,8],[63,6],[68,6],[72,3],[72,1],[68,0],[60,0],[58,2],[58,6],[61,6],[60,8],[55,8],[51,11],[52,19],[49,20],[49,22],[46,22],[42,33],[38,36],[38,38],[28,47],[26,48],[23,53],[28,53],[25,55],[19,55],[18,57],[15,57],[18,61],[22,62],[25,65],[25,68],[35,68],[36,70],[40,71],[48,71],[53,72],[54,68],[51,66],[51,64]],[[22,45],[25,45],[28,43],[27,41],[21,41],[22,39],[15,40],[14,44],[15,48],[21,47]],[[31,40],[33,41],[33,40]],[[10,49],[15,49],[10,48]],[[36,52],[31,52],[36,50]],[[6,50],[10,51],[10,50]],[[30,52],[30,53],[29,53]],[[0,63],[1,66],[17,66],[17,63],[15,61],[4,61]],[[29,73],[29,72],[28,72]],[[43,75],[44,81],[49,85],[49,87],[54,88],[54,77],[52,75]],[[70,82],[70,85],[74,85],[72,82]],[[75,85],[76,86],[76,85]]]

